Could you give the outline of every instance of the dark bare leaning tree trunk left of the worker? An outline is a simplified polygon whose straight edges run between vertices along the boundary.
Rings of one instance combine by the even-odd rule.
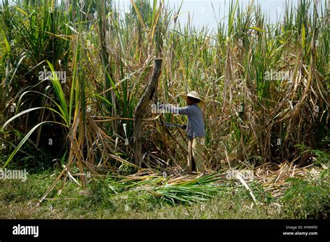
[[[141,142],[141,125],[143,120],[143,115],[146,113],[146,107],[148,106],[150,100],[158,86],[158,79],[160,76],[160,72],[162,69],[162,59],[155,60],[155,67],[150,77],[150,81],[148,86],[146,87],[146,91],[143,93],[139,104],[136,106],[134,110],[134,162],[136,166],[141,166],[141,150],[142,150],[142,142]]]

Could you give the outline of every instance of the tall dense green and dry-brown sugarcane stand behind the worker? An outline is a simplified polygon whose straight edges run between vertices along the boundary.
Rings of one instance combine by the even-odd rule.
[[[15,117],[1,133],[6,165],[27,153],[33,166],[36,153],[59,150],[42,159],[68,154],[65,168],[79,168],[83,186],[86,171],[136,168],[130,163],[133,111],[155,58],[163,59],[155,102],[184,105],[180,94],[189,90],[205,98],[210,168],[304,163],[309,157],[298,152],[299,144],[329,152],[329,13],[320,1],[301,0],[297,9],[287,5],[282,22],[269,24],[260,9],[232,1],[228,24],[219,20],[212,33],[189,21],[182,25],[180,9],[166,8],[166,1],[132,1],[132,14],[105,0],[5,1],[0,118],[4,124]],[[44,68],[65,71],[67,81],[38,79]],[[269,79],[267,72],[289,76]],[[164,130],[152,113],[146,118],[152,120],[143,125],[142,166],[184,163],[183,134]],[[51,134],[56,147],[44,145]]]

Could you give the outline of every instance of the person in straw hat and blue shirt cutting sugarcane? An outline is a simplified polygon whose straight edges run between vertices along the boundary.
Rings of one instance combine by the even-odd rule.
[[[171,113],[188,116],[187,138],[188,138],[188,163],[187,172],[197,171],[205,172],[205,164],[203,159],[203,147],[205,145],[205,124],[203,119],[203,111],[198,104],[203,104],[198,92],[189,92],[187,97],[187,106],[183,108],[175,108],[171,106],[168,110]]]

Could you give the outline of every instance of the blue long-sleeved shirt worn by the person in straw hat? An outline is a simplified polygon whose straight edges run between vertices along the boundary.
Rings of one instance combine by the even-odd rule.
[[[197,104],[185,106],[184,108],[171,107],[171,112],[188,116],[186,131],[189,140],[195,137],[205,136],[205,124],[203,119],[203,112]]]

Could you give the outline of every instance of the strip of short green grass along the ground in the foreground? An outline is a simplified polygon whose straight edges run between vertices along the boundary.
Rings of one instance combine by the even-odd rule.
[[[180,189],[175,190],[175,186],[173,190],[159,186],[151,191],[146,188],[120,191],[116,187],[118,181],[114,179],[92,179],[88,184],[91,195],[86,196],[79,195],[81,189],[74,182],[68,181],[61,195],[56,193],[63,185],[60,182],[54,192],[49,194],[49,200],[37,207],[37,200],[56,178],[56,173],[53,175],[45,172],[29,175],[25,182],[0,181],[0,218],[306,218],[303,216],[306,213],[307,218],[324,218],[327,213],[325,198],[329,194],[324,190],[329,189],[327,175],[329,173],[324,173],[322,178],[313,181],[317,184],[299,179],[289,180],[291,186],[280,199],[275,199],[253,181],[249,186],[261,203],[258,205],[251,199],[249,191],[233,184],[226,184],[226,188],[209,193],[212,197],[204,197],[205,200],[171,202],[164,199],[164,193],[178,196]],[[194,186],[198,187],[196,184]],[[194,197],[194,194],[187,193],[187,200],[189,196]]]

